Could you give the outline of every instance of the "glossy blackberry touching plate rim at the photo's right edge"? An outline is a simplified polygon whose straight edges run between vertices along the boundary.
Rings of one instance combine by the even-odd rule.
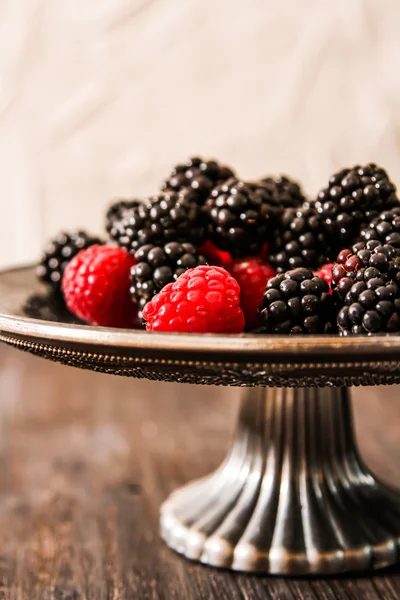
[[[371,268],[358,271],[341,308],[337,324],[340,335],[394,333],[400,331],[400,277],[394,281],[367,277]]]

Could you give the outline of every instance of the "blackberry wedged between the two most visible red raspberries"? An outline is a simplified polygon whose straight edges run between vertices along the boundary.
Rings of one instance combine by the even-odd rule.
[[[206,264],[206,259],[197,253],[192,244],[177,242],[165,246],[146,244],[139,248],[135,258],[138,262],[131,269],[131,295],[140,309],[184,271]]]

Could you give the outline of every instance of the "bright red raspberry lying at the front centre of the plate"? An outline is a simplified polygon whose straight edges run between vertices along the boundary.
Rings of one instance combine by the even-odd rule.
[[[241,333],[239,284],[222,267],[188,269],[146,304],[148,331]]]

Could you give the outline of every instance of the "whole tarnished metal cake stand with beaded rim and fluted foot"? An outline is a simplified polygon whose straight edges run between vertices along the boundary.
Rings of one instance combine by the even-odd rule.
[[[243,386],[223,464],[161,507],[161,535],[171,548],[215,567],[290,575],[362,571],[399,559],[400,493],[358,454],[349,387],[400,383],[400,336],[89,327],[51,302],[40,318],[27,317],[28,298],[35,306],[32,294],[40,292],[33,267],[0,273],[0,341],[93,371]]]

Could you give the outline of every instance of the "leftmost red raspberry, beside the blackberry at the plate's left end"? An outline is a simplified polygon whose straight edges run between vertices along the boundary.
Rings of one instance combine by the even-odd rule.
[[[135,327],[129,272],[135,259],[123,248],[90,246],[68,264],[62,280],[65,301],[83,321],[104,327]]]

